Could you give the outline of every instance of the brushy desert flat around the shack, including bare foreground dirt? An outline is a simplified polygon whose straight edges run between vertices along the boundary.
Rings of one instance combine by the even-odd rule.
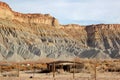
[[[80,60],[82,61],[82,60]],[[53,73],[40,73],[41,69],[33,69],[32,65],[30,67],[25,67],[22,69],[22,66],[12,67],[2,67],[0,71],[0,80],[120,80],[120,61],[82,61],[84,63],[84,68],[81,69],[80,73],[75,73],[73,78],[73,73],[66,71],[56,71],[55,77]],[[42,64],[43,67],[45,67]],[[36,68],[41,68],[41,64],[35,66]],[[13,68],[13,69],[12,69]],[[12,69],[12,70],[11,70]],[[14,71],[15,70],[15,71]],[[19,77],[11,76],[11,73],[16,74],[19,72]],[[34,73],[35,72],[35,73]],[[96,72],[96,78],[95,78]],[[3,75],[10,76],[4,76]]]

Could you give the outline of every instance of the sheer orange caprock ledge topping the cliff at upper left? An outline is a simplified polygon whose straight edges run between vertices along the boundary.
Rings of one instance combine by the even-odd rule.
[[[14,12],[6,3],[0,2],[0,18],[8,20],[17,20],[28,24],[44,24],[49,26],[58,26],[56,18],[49,14],[22,14]]]

